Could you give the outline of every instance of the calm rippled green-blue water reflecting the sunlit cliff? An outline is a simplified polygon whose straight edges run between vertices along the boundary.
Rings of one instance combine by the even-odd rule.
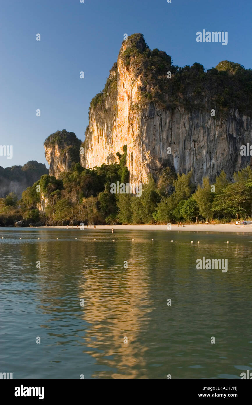
[[[0,228],[0,237],[0,372],[163,379],[252,369],[252,235]],[[228,259],[227,273],[197,270],[203,256]]]

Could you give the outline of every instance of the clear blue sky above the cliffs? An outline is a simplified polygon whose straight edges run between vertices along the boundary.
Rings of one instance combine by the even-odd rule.
[[[13,145],[3,167],[46,163],[43,142],[57,130],[84,140],[89,103],[125,33],[141,32],[179,66],[252,68],[251,0],[0,0],[0,9],[0,145]],[[227,31],[228,44],[197,43],[203,29]]]

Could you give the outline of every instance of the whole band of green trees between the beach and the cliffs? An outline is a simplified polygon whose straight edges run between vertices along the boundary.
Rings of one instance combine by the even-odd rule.
[[[13,225],[17,220],[25,225],[225,223],[252,217],[249,166],[234,173],[232,182],[222,171],[214,183],[205,177],[197,188],[191,183],[192,171],[176,175],[166,167],[157,183],[150,177],[143,185],[142,196],[111,194],[111,183],[129,181],[126,145],[123,152],[117,154],[119,164],[103,164],[93,170],[73,164],[72,170],[61,173],[59,179],[42,175],[19,201],[14,193],[1,198],[0,224]],[[44,211],[38,210],[41,199],[47,203]]]

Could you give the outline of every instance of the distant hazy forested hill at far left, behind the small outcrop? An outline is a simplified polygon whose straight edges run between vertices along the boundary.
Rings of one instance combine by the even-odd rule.
[[[30,160],[23,166],[0,166],[0,198],[6,197],[10,192],[15,192],[20,198],[23,190],[47,173],[46,166],[36,160]]]

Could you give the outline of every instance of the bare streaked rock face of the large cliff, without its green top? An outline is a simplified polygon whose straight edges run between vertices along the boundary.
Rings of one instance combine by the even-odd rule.
[[[241,158],[239,151],[250,139],[250,117],[230,111],[226,119],[213,118],[211,110],[189,112],[178,106],[172,111],[151,101],[139,106],[141,69],[136,71],[132,63],[126,65],[123,58],[131,45],[129,39],[124,41],[110,70],[110,79],[117,78],[116,92],[106,96],[105,108],[90,109],[82,166],[114,163],[118,161],[116,152],[122,153],[126,144],[130,181],[135,183],[147,182],[148,173],[155,177],[167,165],[179,173],[193,168],[192,180],[201,182],[204,176],[210,176],[211,181],[222,169],[229,176],[249,164],[250,159]],[[137,46],[146,46],[143,37]]]

